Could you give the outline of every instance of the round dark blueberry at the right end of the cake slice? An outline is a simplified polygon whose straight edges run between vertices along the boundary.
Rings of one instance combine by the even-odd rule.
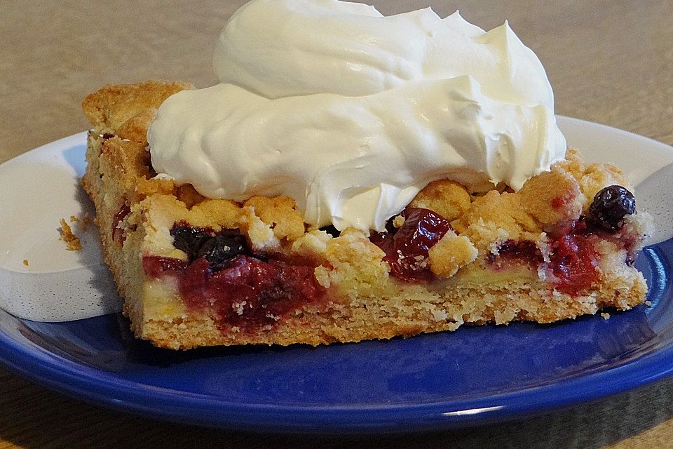
[[[594,196],[589,213],[594,222],[609,232],[615,232],[622,225],[625,215],[636,211],[633,194],[620,185],[605,187]]]

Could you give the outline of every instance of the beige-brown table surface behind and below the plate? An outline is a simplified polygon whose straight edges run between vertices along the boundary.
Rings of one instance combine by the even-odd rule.
[[[241,0],[0,2],[0,162],[88,127],[79,104],[106,83],[215,83],[212,44]],[[170,4],[171,6],[166,6]],[[673,1],[376,1],[383,13],[456,8],[510,20],[543,61],[557,113],[673,144]],[[0,213],[2,213],[0,205]],[[0,448],[664,448],[673,380],[569,410],[459,432],[393,437],[245,434],[90,406],[0,370]]]

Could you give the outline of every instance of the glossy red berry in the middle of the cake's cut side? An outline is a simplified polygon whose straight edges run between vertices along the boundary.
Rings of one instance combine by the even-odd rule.
[[[407,208],[404,224],[393,232],[374,234],[370,240],[386,253],[390,273],[405,282],[429,282],[434,279],[428,263],[428,250],[449,232],[449,220],[432,210]]]

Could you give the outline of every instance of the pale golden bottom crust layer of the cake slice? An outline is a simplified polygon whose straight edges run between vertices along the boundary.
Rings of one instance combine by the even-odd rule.
[[[399,291],[393,292],[395,288]],[[522,320],[551,323],[595,314],[606,307],[630,309],[642,302],[646,285],[639,275],[621,286],[601,288],[583,296],[560,293],[543,282],[510,283],[499,289],[391,286],[376,297],[342,297],[308,304],[266,326],[223,324],[212,310],[190,309],[168,290],[170,286],[167,288],[163,279],[147,282],[144,307],[127,309],[132,330],[137,337],[158,347],[189,349],[233,344],[358,342],[456,330],[463,324]]]

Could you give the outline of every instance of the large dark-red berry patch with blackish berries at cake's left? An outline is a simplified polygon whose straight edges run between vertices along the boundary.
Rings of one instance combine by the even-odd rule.
[[[175,277],[185,304],[209,309],[222,330],[255,332],[325,296],[313,266],[260,260],[234,229],[216,233],[179,223],[171,234],[189,260],[145,256],[144,272]]]

